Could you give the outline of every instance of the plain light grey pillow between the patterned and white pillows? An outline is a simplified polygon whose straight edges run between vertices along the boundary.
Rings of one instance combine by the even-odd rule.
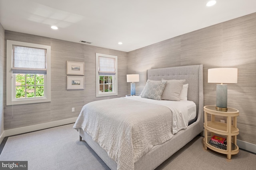
[[[166,81],[166,87],[164,88],[164,92],[162,94],[162,100],[180,100],[180,92],[182,86],[186,80],[164,80]]]

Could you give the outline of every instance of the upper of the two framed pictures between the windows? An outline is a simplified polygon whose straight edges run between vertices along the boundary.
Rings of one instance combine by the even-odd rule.
[[[68,75],[84,75],[84,63],[76,61],[67,61]]]

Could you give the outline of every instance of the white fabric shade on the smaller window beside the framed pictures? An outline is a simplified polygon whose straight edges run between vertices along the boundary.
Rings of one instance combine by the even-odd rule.
[[[115,75],[116,59],[99,56],[99,75]]]

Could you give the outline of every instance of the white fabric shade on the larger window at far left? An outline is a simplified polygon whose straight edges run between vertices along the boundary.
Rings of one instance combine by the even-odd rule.
[[[12,73],[46,74],[46,49],[12,45]]]

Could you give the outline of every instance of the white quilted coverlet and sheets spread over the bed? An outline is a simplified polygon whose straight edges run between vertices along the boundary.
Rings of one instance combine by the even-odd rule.
[[[82,108],[74,128],[86,131],[116,161],[118,169],[133,170],[134,162],[152,147],[171,139],[172,131],[188,126],[192,103],[140,96],[90,102]]]

